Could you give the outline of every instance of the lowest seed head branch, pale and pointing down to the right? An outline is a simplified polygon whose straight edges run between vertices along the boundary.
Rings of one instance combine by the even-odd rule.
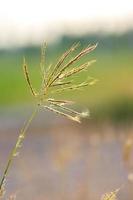
[[[79,117],[79,116],[71,116],[71,115],[66,114],[66,113],[64,113],[64,112],[61,112],[61,111],[59,111],[59,110],[57,110],[57,109],[54,109],[54,108],[52,108],[52,107],[50,107],[50,106],[43,106],[43,108],[45,108],[45,109],[47,109],[47,110],[50,110],[50,111],[52,111],[52,112],[54,112],[54,113],[56,113],[56,114],[58,114],[58,115],[62,115],[62,116],[66,117],[66,118],[68,118],[68,119],[70,119],[70,120],[73,120],[73,121],[76,121],[76,122],[78,122],[78,123],[81,123],[80,117]]]

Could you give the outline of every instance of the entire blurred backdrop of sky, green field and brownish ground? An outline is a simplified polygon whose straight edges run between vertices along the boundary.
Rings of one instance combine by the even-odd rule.
[[[98,200],[119,188],[132,199],[133,181],[133,2],[5,0],[0,6],[0,174],[19,130],[34,109],[24,80],[23,57],[39,88],[40,47],[46,66],[73,43],[98,42],[82,62],[96,59],[88,75],[98,79],[62,98],[89,109],[77,125],[40,111],[9,175],[7,195],[32,200]],[[80,76],[81,80],[85,73]],[[126,152],[126,156],[124,154]]]

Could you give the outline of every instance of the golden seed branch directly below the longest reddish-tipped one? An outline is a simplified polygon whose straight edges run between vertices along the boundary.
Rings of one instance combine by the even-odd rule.
[[[77,74],[77,73],[79,73],[79,72],[81,72],[81,71],[84,71],[84,70],[86,70],[91,64],[93,64],[94,62],[96,62],[96,60],[91,60],[90,62],[87,62],[87,63],[85,63],[85,64],[83,64],[83,65],[81,65],[81,66],[79,66],[79,67],[75,67],[75,68],[73,68],[72,70],[67,71],[67,72],[61,74],[61,75],[59,76],[59,79],[67,78],[67,77],[70,77],[70,76],[72,76],[72,75],[74,75],[74,74]]]

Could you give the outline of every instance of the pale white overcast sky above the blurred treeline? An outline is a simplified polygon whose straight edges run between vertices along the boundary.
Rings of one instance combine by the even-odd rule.
[[[133,0],[0,0],[0,48],[133,28]]]

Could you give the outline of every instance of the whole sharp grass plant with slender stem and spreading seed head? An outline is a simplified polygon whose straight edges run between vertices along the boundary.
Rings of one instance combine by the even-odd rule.
[[[88,67],[95,62],[95,60],[88,61],[79,65],[77,62],[89,54],[96,48],[97,44],[89,45],[83,50],[80,51],[73,58],[70,58],[72,53],[79,47],[79,43],[72,45],[57,61],[57,63],[49,67],[45,66],[45,50],[46,45],[43,44],[41,48],[41,63],[40,63],[40,72],[41,72],[41,85],[39,91],[35,91],[32,86],[30,75],[28,72],[28,66],[26,60],[24,59],[23,70],[26,82],[29,86],[31,94],[37,101],[37,106],[28,121],[25,123],[24,127],[21,129],[16,144],[14,145],[12,151],[10,152],[7,164],[5,166],[3,175],[0,180],[0,196],[1,198],[4,196],[5,191],[5,181],[7,175],[9,173],[9,169],[11,164],[19,153],[19,150],[23,144],[25,139],[25,135],[27,133],[27,129],[32,122],[34,116],[36,115],[38,108],[47,109],[59,115],[62,115],[70,120],[81,122],[82,118],[85,118],[89,115],[88,111],[86,112],[78,112],[75,109],[70,108],[70,104],[74,102],[64,99],[54,99],[52,98],[53,93],[63,93],[66,90],[78,90],[88,85],[93,85],[96,82],[96,79],[91,78],[87,79],[81,83],[74,83],[74,76],[78,75],[82,71],[88,70]],[[73,77],[73,78],[72,78]]]

